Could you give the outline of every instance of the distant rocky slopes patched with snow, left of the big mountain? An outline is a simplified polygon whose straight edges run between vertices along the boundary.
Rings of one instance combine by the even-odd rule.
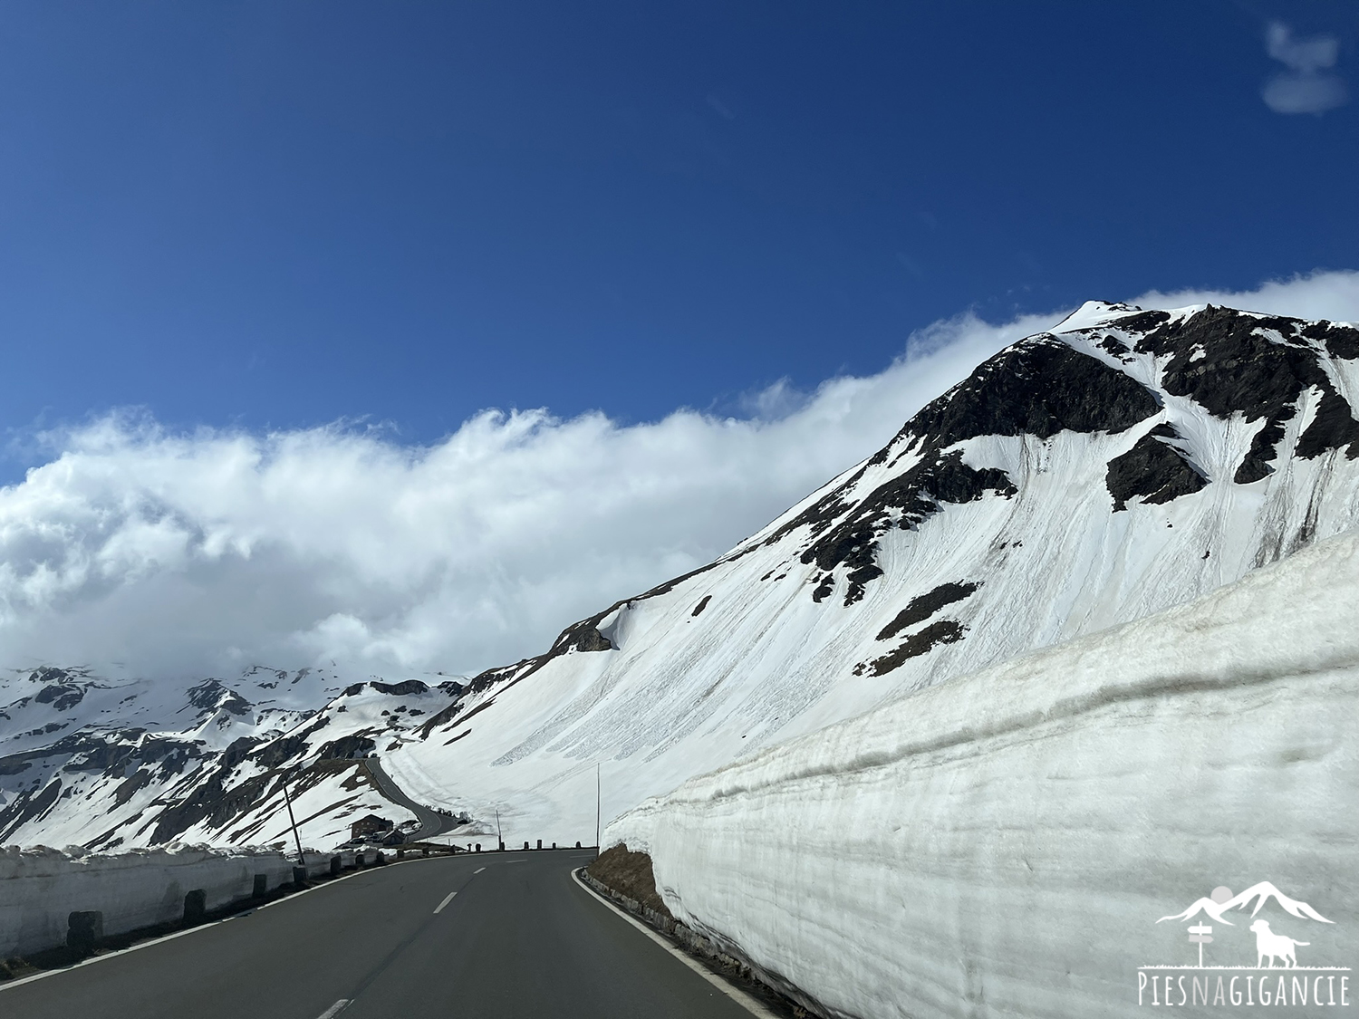
[[[287,783],[303,840],[329,848],[364,814],[413,819],[361,758],[394,746],[461,685],[345,685],[332,670],[258,667],[151,683],[45,667],[4,690],[14,700],[0,707],[0,844],[281,846]]]

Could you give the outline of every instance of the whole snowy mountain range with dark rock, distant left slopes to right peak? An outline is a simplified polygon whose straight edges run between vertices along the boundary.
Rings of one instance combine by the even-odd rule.
[[[261,728],[264,698],[213,687],[198,694],[211,720],[177,730],[177,746],[200,751],[183,750],[181,772],[128,757],[116,780],[73,749],[65,761],[95,776],[80,792],[67,792],[67,750],[50,751],[114,745],[105,723],[91,735],[105,694],[68,708],[80,726],[53,742],[43,730],[73,694],[43,693],[46,713],[16,721],[34,687],[0,708],[12,716],[0,717],[0,841],[269,841],[277,783],[302,766],[314,785],[299,822],[319,841],[353,792],[340,788],[356,772],[334,764],[348,759],[337,747],[370,743],[416,799],[482,819],[499,810],[507,842],[591,841],[597,764],[607,819],[769,742],[1148,615],[1354,527],[1356,398],[1354,326],[1090,303],[718,561],[465,685],[347,694],[328,678],[314,713],[280,713],[277,730]],[[222,701],[232,693],[254,728],[223,742],[238,724]],[[135,728],[117,746],[164,738]],[[39,758],[41,773],[22,768]],[[117,803],[130,780],[144,785]],[[317,821],[303,821],[310,810]]]

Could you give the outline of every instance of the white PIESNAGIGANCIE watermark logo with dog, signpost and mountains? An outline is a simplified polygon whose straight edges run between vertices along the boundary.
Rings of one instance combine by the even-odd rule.
[[[1269,918],[1260,912],[1271,908]],[[1220,928],[1237,928],[1245,917],[1237,916],[1235,923],[1229,913],[1250,909],[1248,928],[1229,932]],[[1273,916],[1282,910],[1286,916]],[[1290,918],[1291,917],[1291,918]],[[1207,923],[1212,920],[1212,923]],[[1325,952],[1313,948],[1313,932],[1324,933],[1318,924],[1332,924],[1306,902],[1290,898],[1267,880],[1252,884],[1239,894],[1231,889],[1218,887],[1212,894],[1200,898],[1182,913],[1163,916],[1158,924],[1189,924],[1184,928],[1189,944],[1197,948],[1197,963],[1161,963],[1137,967],[1137,1004],[1150,1005],[1341,1005],[1349,1007],[1349,967],[1311,966],[1299,962],[1302,948],[1305,961],[1314,957],[1325,961]],[[1275,927],[1271,927],[1273,923]],[[1227,935],[1216,948],[1214,944],[1215,925],[1219,936]],[[1249,931],[1254,940],[1249,940]],[[1299,936],[1302,935],[1302,936]],[[1306,936],[1306,940],[1303,940]],[[1182,943],[1181,943],[1182,944]],[[1253,950],[1253,952],[1252,952]],[[1188,952],[1186,952],[1188,954]],[[1250,965],[1250,955],[1254,965]],[[1234,965],[1233,965],[1234,963]],[[1272,971],[1271,971],[1272,970]]]

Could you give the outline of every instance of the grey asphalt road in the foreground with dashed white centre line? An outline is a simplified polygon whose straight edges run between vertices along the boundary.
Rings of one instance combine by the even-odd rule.
[[[469,853],[363,871],[0,988],[0,1016],[750,1019],[572,880],[591,857]]]

